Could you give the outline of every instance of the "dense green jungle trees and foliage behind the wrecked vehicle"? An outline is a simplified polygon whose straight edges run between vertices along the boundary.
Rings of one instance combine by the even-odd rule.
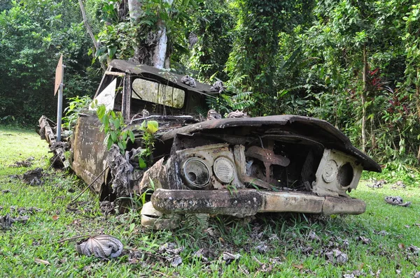
[[[230,87],[225,94],[236,95],[209,100],[211,108],[319,117],[381,163],[419,163],[417,1],[79,3],[0,1],[1,123],[54,117],[60,53],[65,97],[92,96],[109,59],[155,65],[153,51],[166,34],[165,66],[206,82],[219,78]]]

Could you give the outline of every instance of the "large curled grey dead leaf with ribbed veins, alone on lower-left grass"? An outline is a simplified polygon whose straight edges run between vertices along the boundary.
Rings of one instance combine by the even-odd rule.
[[[97,258],[116,258],[123,251],[123,243],[111,235],[94,235],[76,244],[78,254]]]

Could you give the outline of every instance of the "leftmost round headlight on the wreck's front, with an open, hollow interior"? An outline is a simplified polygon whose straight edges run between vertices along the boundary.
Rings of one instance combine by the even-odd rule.
[[[210,170],[202,159],[192,157],[183,163],[183,176],[187,185],[205,187],[210,181]]]

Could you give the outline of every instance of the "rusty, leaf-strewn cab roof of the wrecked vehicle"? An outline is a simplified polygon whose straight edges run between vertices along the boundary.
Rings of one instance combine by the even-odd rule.
[[[197,92],[199,94],[218,94],[218,92],[215,92],[210,85],[198,82],[197,80],[195,81],[196,87],[186,85],[181,81],[181,78],[183,78],[184,75],[179,75],[177,73],[167,71],[166,69],[155,68],[153,66],[137,64],[133,61],[118,59],[112,60],[109,66],[125,73],[141,75],[145,79],[156,80],[162,84],[180,87],[181,89],[186,89],[190,92]]]

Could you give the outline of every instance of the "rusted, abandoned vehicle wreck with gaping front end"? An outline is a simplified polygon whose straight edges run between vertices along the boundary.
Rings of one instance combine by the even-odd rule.
[[[69,142],[55,142],[54,129],[41,117],[41,133],[57,157],[99,194],[113,202],[147,193],[142,213],[148,225],[178,214],[258,212],[361,214],[356,189],[363,170],[380,172],[349,138],[321,119],[297,115],[221,119],[216,111],[199,116],[206,98],[221,92],[150,66],[113,60],[94,103],[121,112],[127,137],[125,152],[104,144],[97,113],[80,113]],[[90,108],[92,109],[92,108]],[[144,129],[158,122],[148,165],[141,167]],[[71,157],[64,152],[71,150]]]

